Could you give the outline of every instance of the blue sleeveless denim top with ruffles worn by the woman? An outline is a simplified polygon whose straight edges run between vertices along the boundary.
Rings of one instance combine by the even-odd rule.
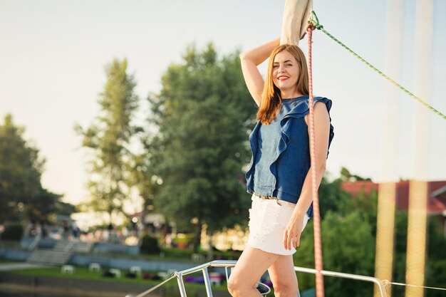
[[[276,128],[261,125],[258,121],[249,135],[252,158],[246,174],[247,192],[297,203],[311,165],[308,126],[304,118],[310,110],[308,95],[286,100],[291,100],[291,103],[283,104],[274,123],[270,124],[277,125]],[[314,97],[313,103],[317,101],[325,103],[330,112],[331,100]],[[333,126],[330,124],[328,147],[333,135]],[[267,137],[269,144],[264,144],[266,140],[261,136]],[[264,146],[266,149],[262,150]],[[313,204],[307,214],[313,217]]]

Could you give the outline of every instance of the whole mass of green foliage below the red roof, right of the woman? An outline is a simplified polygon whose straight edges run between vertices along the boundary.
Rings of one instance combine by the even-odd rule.
[[[344,174],[348,172],[345,168]],[[342,174],[341,174],[342,175]],[[358,177],[358,180],[364,180]],[[322,220],[323,259],[326,270],[374,275],[374,248],[378,193],[360,193],[356,197],[343,193],[341,179],[328,182],[323,179],[319,188]],[[298,266],[313,267],[312,223],[306,227],[301,238],[301,245],[294,259]],[[426,286],[445,287],[446,261],[444,251],[446,238],[444,226],[438,216],[428,217],[427,222],[427,258],[425,267]],[[310,231],[310,234],[308,234]],[[395,246],[393,259],[393,281],[405,283],[406,250],[408,237],[408,212],[397,210],[395,213]],[[341,278],[324,278],[328,296],[367,296],[373,291],[372,286],[359,281]],[[314,276],[299,273],[301,291],[314,286]],[[405,288],[393,286],[393,295],[403,296]],[[426,296],[442,296],[441,291],[427,290]]]

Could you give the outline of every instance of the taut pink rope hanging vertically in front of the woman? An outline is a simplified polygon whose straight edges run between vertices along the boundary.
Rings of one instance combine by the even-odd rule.
[[[323,276],[322,276],[322,241],[321,241],[321,215],[319,212],[319,197],[316,186],[316,152],[314,145],[314,115],[313,115],[313,73],[311,68],[311,28],[307,28],[308,33],[308,88],[310,107],[310,157],[311,157],[311,186],[313,193],[313,219],[314,219],[314,264],[316,269],[316,296],[323,297]]]

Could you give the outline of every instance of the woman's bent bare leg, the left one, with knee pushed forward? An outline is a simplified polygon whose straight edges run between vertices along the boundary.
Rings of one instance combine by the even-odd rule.
[[[229,293],[233,297],[261,297],[256,284],[277,258],[277,254],[247,246],[229,276]]]

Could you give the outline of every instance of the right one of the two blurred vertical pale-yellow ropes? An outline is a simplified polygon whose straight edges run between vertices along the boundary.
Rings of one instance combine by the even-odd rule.
[[[433,0],[417,0],[415,15],[415,93],[429,100],[432,95]],[[414,103],[413,179],[409,187],[406,283],[424,286],[427,223],[427,162],[429,118],[425,108]],[[424,296],[423,288],[407,286],[406,297]]]

